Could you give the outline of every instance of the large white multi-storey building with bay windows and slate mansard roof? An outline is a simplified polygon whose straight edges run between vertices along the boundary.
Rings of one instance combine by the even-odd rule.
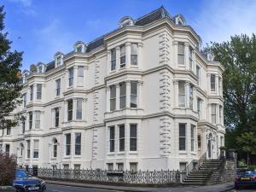
[[[224,145],[224,67],[161,7],[24,71],[24,119],[0,133],[19,166],[182,169]]]

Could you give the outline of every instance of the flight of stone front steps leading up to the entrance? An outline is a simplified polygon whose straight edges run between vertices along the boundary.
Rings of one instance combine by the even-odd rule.
[[[190,185],[206,184],[212,171],[218,169],[222,162],[222,160],[205,160],[199,169],[193,170],[189,173],[189,175],[183,180],[183,183]]]

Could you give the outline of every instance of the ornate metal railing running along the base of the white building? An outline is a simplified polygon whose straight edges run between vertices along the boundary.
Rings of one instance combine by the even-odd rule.
[[[119,172],[103,170],[73,170],[30,168],[27,172],[44,179],[84,181],[96,183],[168,184],[180,183],[179,171]]]

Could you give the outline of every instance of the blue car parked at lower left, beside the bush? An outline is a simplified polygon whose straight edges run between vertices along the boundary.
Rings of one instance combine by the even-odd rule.
[[[42,179],[32,177],[31,174],[24,170],[17,170],[15,172],[13,185],[17,192],[44,192],[46,190],[45,182]]]

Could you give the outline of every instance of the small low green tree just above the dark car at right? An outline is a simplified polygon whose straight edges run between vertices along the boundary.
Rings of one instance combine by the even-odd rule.
[[[247,166],[250,164],[250,154],[256,154],[256,134],[254,132],[242,133],[236,138],[238,145],[247,153]]]

